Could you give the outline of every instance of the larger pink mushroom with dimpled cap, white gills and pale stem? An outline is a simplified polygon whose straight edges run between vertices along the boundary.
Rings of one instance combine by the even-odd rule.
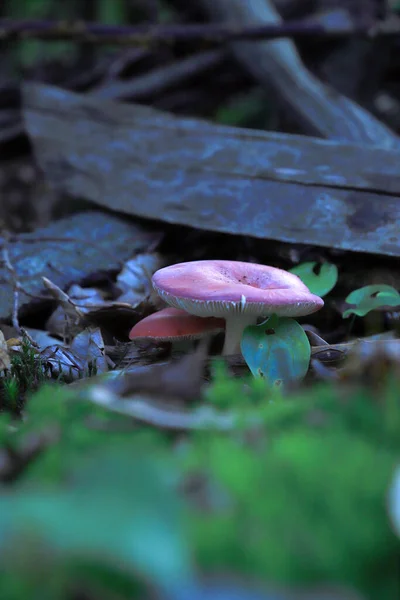
[[[243,330],[258,317],[300,317],[324,305],[297,275],[239,261],[179,263],[156,271],[152,282],[170,306],[198,317],[225,319],[225,355],[240,352]]]

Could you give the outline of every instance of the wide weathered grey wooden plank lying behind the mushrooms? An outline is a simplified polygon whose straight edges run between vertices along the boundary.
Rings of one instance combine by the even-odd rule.
[[[400,152],[216,126],[29,84],[58,190],[211,231],[400,255]]]

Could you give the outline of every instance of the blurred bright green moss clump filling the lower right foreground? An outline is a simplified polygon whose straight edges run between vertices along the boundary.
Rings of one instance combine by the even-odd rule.
[[[400,597],[400,543],[386,508],[400,459],[397,389],[392,378],[380,397],[319,385],[267,398],[261,429],[197,436],[187,461],[206,481],[209,510],[190,522],[202,567]]]

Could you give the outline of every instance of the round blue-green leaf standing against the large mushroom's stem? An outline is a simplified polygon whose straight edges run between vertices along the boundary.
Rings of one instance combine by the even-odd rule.
[[[273,387],[302,379],[310,364],[310,343],[294,319],[270,317],[261,325],[246,327],[241,350],[254,377]]]

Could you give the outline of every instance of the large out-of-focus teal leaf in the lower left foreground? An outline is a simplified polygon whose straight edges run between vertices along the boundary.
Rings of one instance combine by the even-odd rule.
[[[11,547],[27,552],[29,562],[44,544],[56,555],[99,560],[159,585],[190,580],[172,467],[148,444],[130,443],[84,460],[68,485],[0,490],[0,560]]]

